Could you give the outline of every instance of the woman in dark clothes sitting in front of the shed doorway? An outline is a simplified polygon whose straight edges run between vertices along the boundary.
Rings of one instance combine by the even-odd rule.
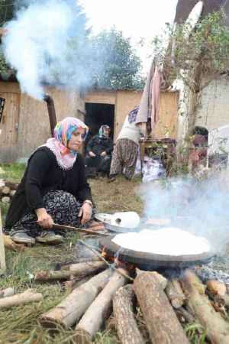
[[[103,125],[99,134],[88,142],[85,164],[88,168],[95,168],[96,172],[108,175],[111,165],[113,141],[109,137],[110,127]]]

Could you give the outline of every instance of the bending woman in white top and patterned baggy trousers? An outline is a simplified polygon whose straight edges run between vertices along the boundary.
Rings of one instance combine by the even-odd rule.
[[[128,180],[134,175],[141,137],[140,128],[136,125],[138,109],[136,106],[129,112],[117,137],[111,161],[110,182],[115,180],[117,174],[124,174]]]

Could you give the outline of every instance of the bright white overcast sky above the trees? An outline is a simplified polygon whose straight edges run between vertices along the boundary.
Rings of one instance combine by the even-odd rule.
[[[131,37],[133,44],[141,37],[147,41],[160,33],[165,22],[173,22],[178,0],[79,0],[83,6],[89,24],[94,32],[109,29],[113,25]],[[144,70],[149,67],[147,45],[138,48]]]

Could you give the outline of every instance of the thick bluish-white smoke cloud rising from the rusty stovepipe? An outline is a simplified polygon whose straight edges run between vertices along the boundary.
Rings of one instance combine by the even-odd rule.
[[[102,56],[87,32],[85,14],[77,1],[19,0],[15,19],[3,39],[8,63],[16,69],[23,92],[42,99],[43,85],[72,89],[91,86],[102,71]]]

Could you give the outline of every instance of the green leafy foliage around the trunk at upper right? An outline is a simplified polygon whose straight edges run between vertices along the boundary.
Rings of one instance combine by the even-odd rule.
[[[196,89],[197,73],[198,81],[204,78],[208,84],[228,70],[229,28],[225,18],[223,11],[213,12],[191,33],[188,23],[176,25],[175,29],[167,25],[165,34],[153,40],[154,54],[164,66],[168,83],[182,78],[187,86]]]

